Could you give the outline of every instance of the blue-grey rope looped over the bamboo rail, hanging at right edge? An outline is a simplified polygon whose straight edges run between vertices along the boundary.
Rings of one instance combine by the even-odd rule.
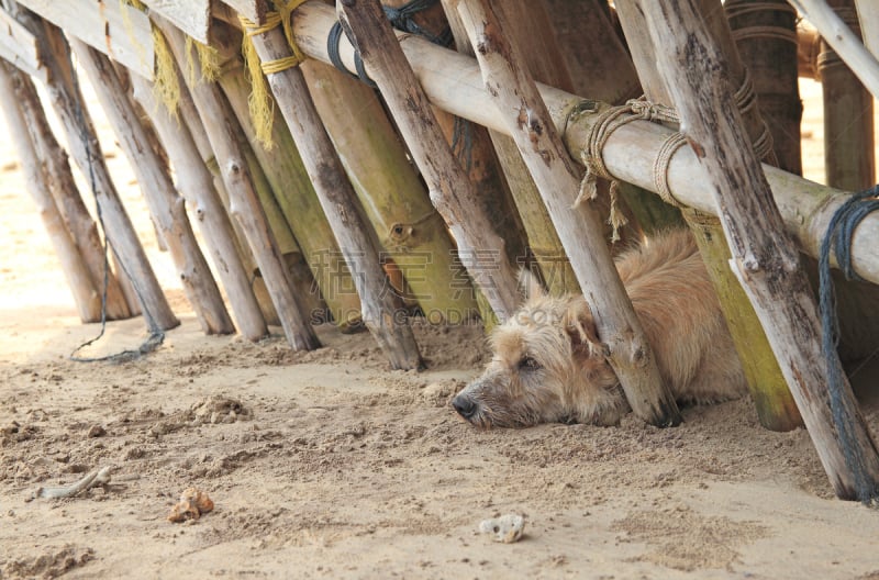
[[[861,280],[852,265],[852,237],[867,214],[879,211],[879,186],[852,196],[839,205],[831,217],[827,233],[821,242],[819,257],[819,310],[821,313],[822,336],[821,352],[827,365],[827,390],[831,400],[831,414],[839,435],[845,455],[846,466],[854,478],[857,499],[865,504],[875,503],[879,499],[876,488],[867,472],[863,458],[855,453],[854,416],[856,411],[846,408],[850,398],[844,397],[844,372],[836,355],[839,343],[839,321],[836,317],[836,294],[831,279],[830,254],[833,249],[839,269],[848,280]]]

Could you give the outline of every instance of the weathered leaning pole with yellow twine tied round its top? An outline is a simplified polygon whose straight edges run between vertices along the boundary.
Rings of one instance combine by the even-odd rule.
[[[252,34],[251,38],[263,63],[292,56],[287,40],[278,29]],[[352,271],[366,327],[381,346],[392,368],[421,368],[421,354],[412,328],[405,321],[402,304],[396,300],[393,292],[388,291],[389,282],[381,269],[378,239],[363,216],[354,189],[321,124],[302,71],[293,67],[267,77],[275,101],[287,121],[321,207]]]

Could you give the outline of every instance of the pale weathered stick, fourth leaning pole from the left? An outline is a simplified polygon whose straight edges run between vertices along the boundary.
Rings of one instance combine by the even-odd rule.
[[[71,38],[70,47],[80,66],[91,78],[107,119],[141,183],[153,223],[170,253],[189,303],[207,334],[235,332],[223,297],[211,275],[208,261],[196,242],[186,214],[183,198],[174,188],[162,159],[151,145],[141,120],[129,100],[110,59],[82,41]]]

